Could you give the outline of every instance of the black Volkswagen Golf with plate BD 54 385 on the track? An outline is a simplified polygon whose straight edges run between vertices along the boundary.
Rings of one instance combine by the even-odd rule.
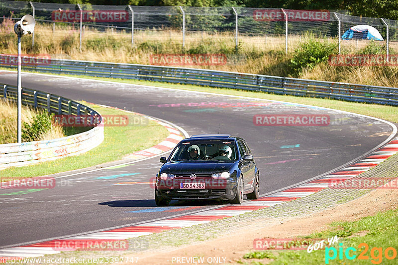
[[[241,204],[258,199],[259,171],[244,139],[229,134],[194,135],[182,140],[156,175],[155,201],[225,199]]]

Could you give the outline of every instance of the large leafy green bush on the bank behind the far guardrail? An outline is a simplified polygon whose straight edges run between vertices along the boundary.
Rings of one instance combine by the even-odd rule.
[[[301,43],[295,50],[293,59],[290,61],[292,75],[299,76],[303,69],[311,70],[317,64],[326,62],[330,55],[337,53],[337,44],[320,42],[309,39]]]

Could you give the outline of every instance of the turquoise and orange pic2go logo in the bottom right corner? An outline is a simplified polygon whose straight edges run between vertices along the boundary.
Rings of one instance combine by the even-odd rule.
[[[338,250],[338,255],[339,255],[339,260],[343,259],[343,253],[346,259],[348,260],[354,260],[357,258],[357,255],[354,253],[357,251],[355,248],[347,248],[345,251],[343,251],[343,243],[339,244],[339,250]],[[361,252],[361,254],[358,255],[358,260],[369,260],[369,256],[366,256],[366,253],[369,250],[369,246],[366,243],[361,243],[358,245],[358,249],[362,249],[365,247],[365,249]],[[330,252],[332,252],[332,256],[330,256]],[[377,254],[376,254],[377,252]],[[392,255],[390,255],[392,254]],[[372,248],[370,251],[370,256],[372,257],[371,262],[373,264],[381,264],[383,261],[383,248]],[[386,257],[387,260],[394,260],[397,257],[397,250],[393,247],[389,247],[384,251],[384,256]],[[337,250],[334,247],[325,248],[325,264],[329,264],[329,260],[334,260],[337,258]]]

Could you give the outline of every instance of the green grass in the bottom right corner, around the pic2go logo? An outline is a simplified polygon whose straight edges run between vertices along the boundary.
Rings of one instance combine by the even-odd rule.
[[[393,260],[388,260],[385,256],[387,248],[394,248],[398,251],[398,209],[389,210],[386,212],[379,212],[373,216],[361,218],[353,222],[333,222],[330,230],[313,233],[305,238],[319,239],[331,238],[338,236],[338,243],[342,244],[342,250],[345,253],[349,247],[355,248],[354,253],[350,250],[349,255],[356,255],[354,260],[349,260],[343,253],[343,258],[339,259],[339,245],[334,244],[330,247],[336,248],[337,256],[335,259],[329,259],[329,264],[397,264],[398,257]],[[364,236],[355,236],[355,234],[362,232]],[[353,236],[354,235],[354,236]],[[369,247],[365,252],[365,246],[359,247],[361,243],[366,243]],[[383,256],[374,248],[382,248]],[[328,250],[329,257],[333,256],[333,251]],[[358,256],[363,253],[368,256],[368,260],[358,260]],[[373,253],[373,256],[372,256]],[[312,251],[307,253],[302,251],[273,251],[262,254],[262,252],[250,252],[243,256],[244,259],[274,259],[270,264],[272,265],[295,265],[295,264],[309,264],[319,265],[325,264],[325,249]],[[393,256],[393,251],[389,251],[389,256]],[[264,257],[264,258],[262,258]],[[269,260],[268,260],[269,261]],[[265,261],[264,261],[265,262]],[[261,263],[257,263],[261,264]]]

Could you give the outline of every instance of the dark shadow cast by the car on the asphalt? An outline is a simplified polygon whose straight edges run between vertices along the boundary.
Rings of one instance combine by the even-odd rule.
[[[109,207],[156,207],[154,199],[126,199],[126,200],[111,200],[98,203],[99,205],[107,205]],[[212,206],[212,205],[223,205],[229,204],[222,200],[190,200],[190,201],[179,201],[172,200],[169,206]]]

